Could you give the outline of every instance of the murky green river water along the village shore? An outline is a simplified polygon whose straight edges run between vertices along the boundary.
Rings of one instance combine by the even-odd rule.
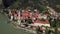
[[[11,23],[7,23],[8,18],[6,15],[0,14],[0,34],[31,34],[24,30],[16,30]]]

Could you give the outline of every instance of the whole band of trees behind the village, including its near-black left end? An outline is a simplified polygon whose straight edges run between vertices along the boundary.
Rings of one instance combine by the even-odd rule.
[[[17,5],[20,5],[21,8],[30,6],[42,10],[45,6],[50,6],[56,11],[60,11],[60,0],[3,0],[3,5],[6,8],[14,4],[15,1],[19,2]]]

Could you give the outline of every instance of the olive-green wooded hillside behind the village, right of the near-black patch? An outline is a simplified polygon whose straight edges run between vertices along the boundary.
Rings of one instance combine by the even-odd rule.
[[[29,2],[30,1],[30,2]],[[56,3],[54,3],[54,1],[56,1]],[[57,12],[60,11],[60,4],[58,3],[59,0],[18,0],[18,2],[14,3],[12,5],[11,8],[24,8],[26,9],[26,7],[31,7],[33,9],[38,9],[41,11],[45,11],[44,9],[46,9],[46,6],[50,6],[52,8],[54,8]],[[18,4],[21,4],[21,6],[19,6]]]

